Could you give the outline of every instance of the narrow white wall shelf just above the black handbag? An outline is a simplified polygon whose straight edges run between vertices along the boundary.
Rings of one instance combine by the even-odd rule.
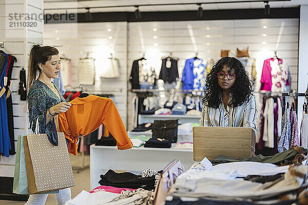
[[[199,124],[199,115],[139,115],[139,124],[154,122],[154,120],[179,119],[179,124],[194,122]]]

